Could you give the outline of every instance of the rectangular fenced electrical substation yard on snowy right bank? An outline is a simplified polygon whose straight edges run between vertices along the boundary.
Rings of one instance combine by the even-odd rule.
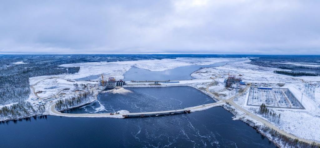
[[[251,87],[247,105],[260,106],[262,103],[267,107],[304,109],[287,88]]]

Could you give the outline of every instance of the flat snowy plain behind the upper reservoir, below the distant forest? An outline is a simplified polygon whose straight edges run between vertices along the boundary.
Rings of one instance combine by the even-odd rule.
[[[177,58],[162,60],[137,60],[121,62],[89,62],[64,64],[63,67],[80,67],[79,73],[64,75],[65,79],[79,79],[90,75],[104,74],[106,77],[123,79],[124,73],[131,67],[138,67],[150,71],[165,71],[176,67],[189,65],[209,65],[218,62],[239,60],[240,58]]]

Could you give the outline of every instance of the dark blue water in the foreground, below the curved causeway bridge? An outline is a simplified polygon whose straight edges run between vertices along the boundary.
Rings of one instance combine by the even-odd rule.
[[[47,116],[0,124],[0,147],[276,147],[222,107],[143,118]]]

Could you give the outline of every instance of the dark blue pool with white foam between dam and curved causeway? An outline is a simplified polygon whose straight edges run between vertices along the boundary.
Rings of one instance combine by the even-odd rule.
[[[148,112],[184,109],[214,103],[208,95],[188,87],[121,88],[105,91],[98,101],[66,113],[110,113],[119,110]]]

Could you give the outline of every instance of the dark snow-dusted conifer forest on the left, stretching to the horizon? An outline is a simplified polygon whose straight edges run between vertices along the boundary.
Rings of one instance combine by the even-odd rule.
[[[30,77],[74,74],[80,69],[80,67],[59,67],[62,64],[146,60],[151,58],[170,57],[165,55],[0,55],[0,106],[26,100],[30,94]],[[15,64],[16,62],[22,62],[23,64]]]

